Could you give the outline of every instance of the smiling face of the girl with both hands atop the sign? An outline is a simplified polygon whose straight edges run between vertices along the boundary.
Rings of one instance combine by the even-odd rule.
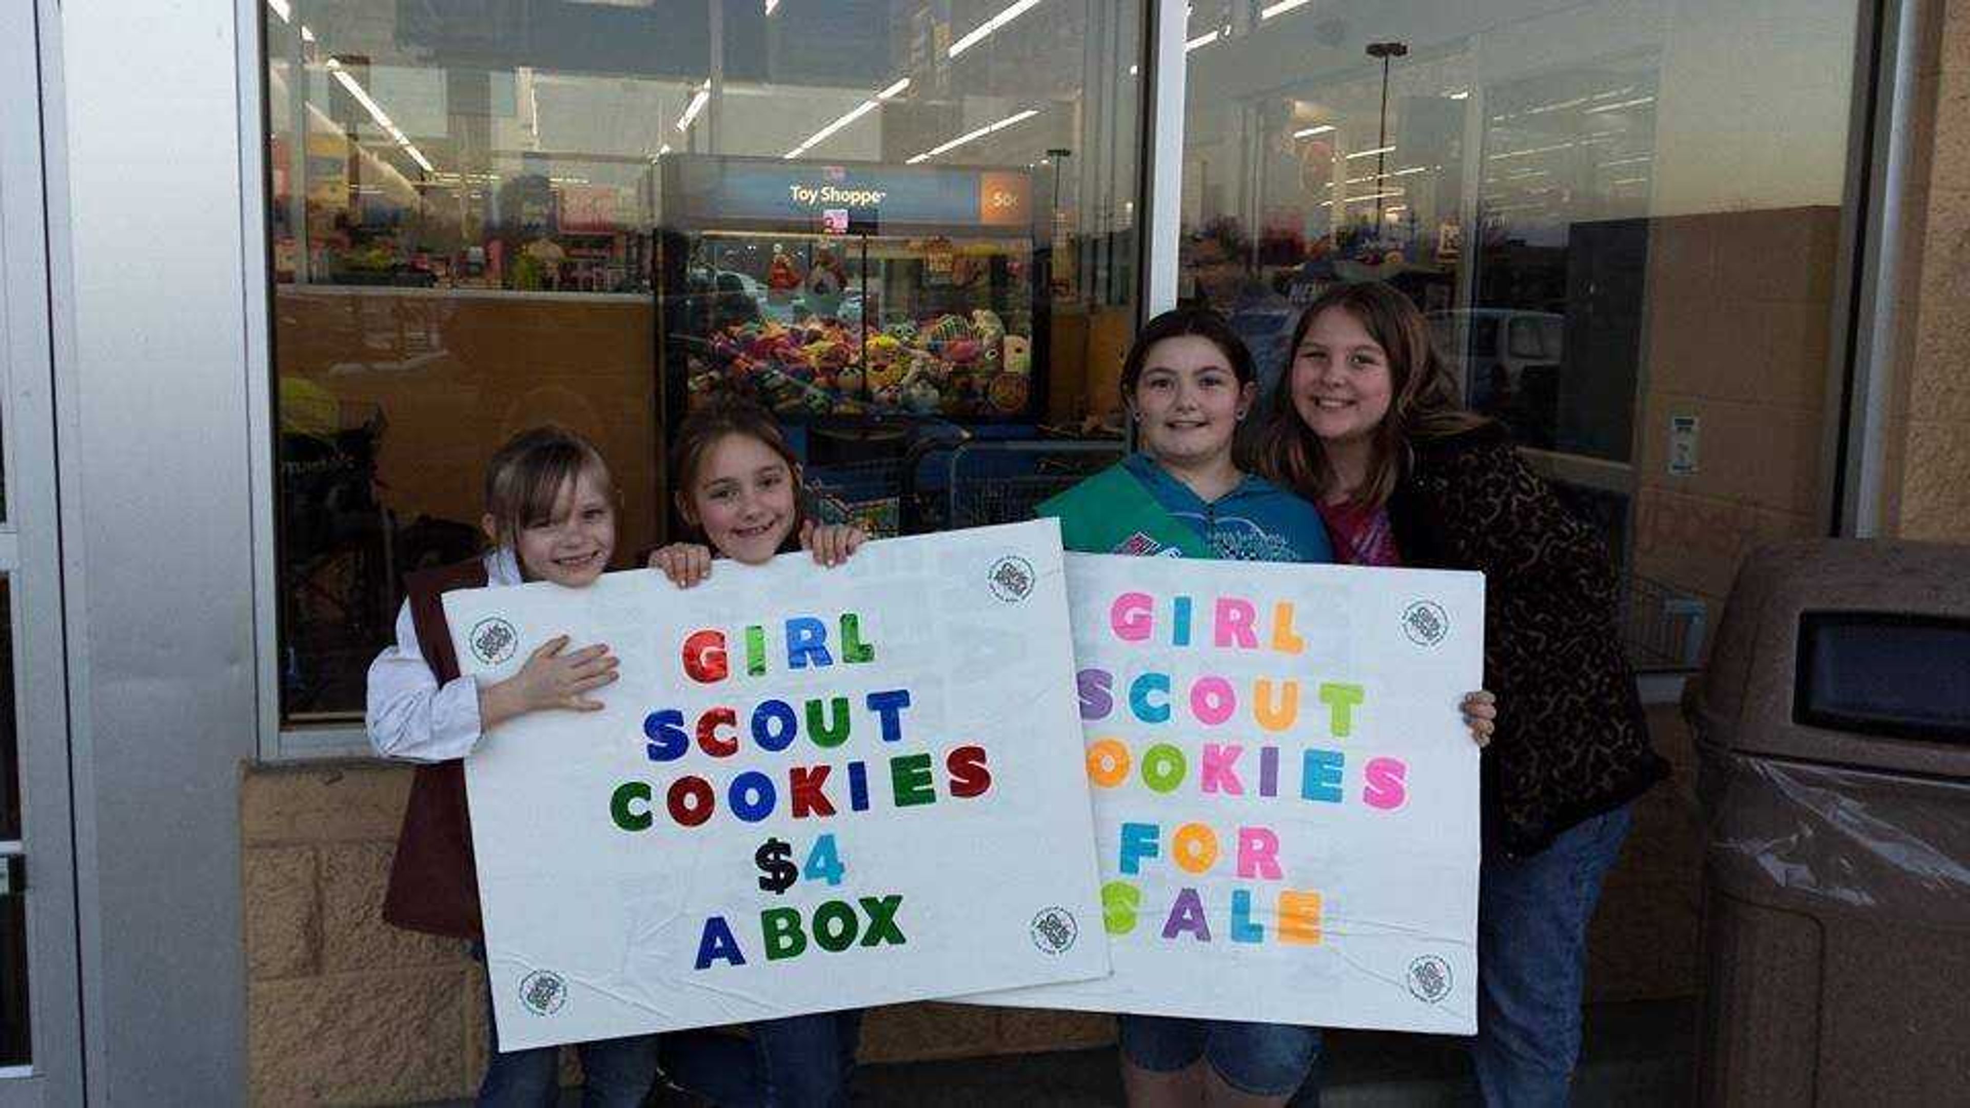
[[[776,450],[749,434],[727,434],[705,450],[695,483],[680,493],[678,507],[719,554],[758,566],[780,552],[798,520],[796,481]]]

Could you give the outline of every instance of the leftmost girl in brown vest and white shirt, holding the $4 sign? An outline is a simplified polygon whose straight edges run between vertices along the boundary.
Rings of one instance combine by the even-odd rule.
[[[479,881],[465,806],[465,763],[494,726],[528,712],[593,712],[589,698],[617,678],[603,643],[569,649],[550,639],[506,680],[459,676],[441,595],[451,589],[554,582],[595,584],[615,552],[615,485],[601,453],[561,428],[520,432],[487,469],[483,558],[412,574],[396,617],[396,645],[368,670],[370,745],[416,761],[410,806],[390,864],[384,921],[467,938],[481,952]],[[634,1108],[656,1080],[656,1035],[581,1043],[583,1104]],[[479,1104],[538,1106],[559,1096],[559,1049],[494,1051]]]

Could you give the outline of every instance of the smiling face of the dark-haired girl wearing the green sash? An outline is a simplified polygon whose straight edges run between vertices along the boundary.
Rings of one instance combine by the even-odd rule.
[[[1135,381],[1143,450],[1168,465],[1215,465],[1231,457],[1231,436],[1255,384],[1239,384],[1217,343],[1174,335],[1149,347]]]

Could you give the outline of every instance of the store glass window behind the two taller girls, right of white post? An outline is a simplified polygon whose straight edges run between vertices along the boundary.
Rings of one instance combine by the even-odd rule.
[[[1608,534],[1635,660],[1818,534],[1858,0],[1200,0],[1180,294],[1277,381],[1385,280]]]

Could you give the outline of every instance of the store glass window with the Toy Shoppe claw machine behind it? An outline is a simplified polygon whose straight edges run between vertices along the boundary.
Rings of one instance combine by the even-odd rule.
[[[361,714],[530,424],[607,455],[623,564],[721,392],[879,534],[1121,450],[1143,4],[266,4],[286,722]]]

